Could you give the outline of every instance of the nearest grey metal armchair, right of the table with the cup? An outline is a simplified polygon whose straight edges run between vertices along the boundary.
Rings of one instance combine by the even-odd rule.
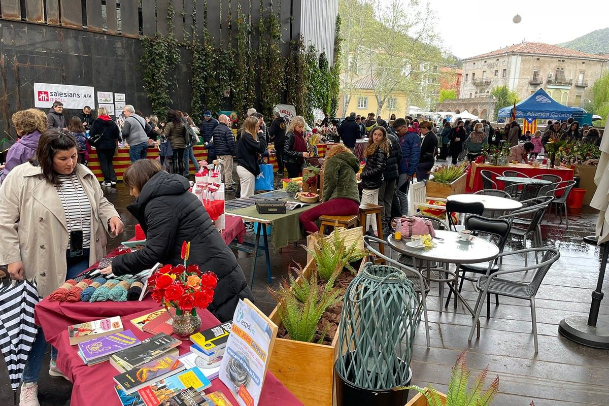
[[[531,265],[530,267],[525,265],[524,267],[517,267],[512,269],[505,269],[491,273],[490,275],[482,275],[476,282],[476,290],[479,292],[476,300],[476,307],[474,307],[474,323],[471,327],[470,337],[468,341],[474,336],[474,328],[476,327],[482,311],[482,304],[484,298],[488,295],[495,294],[499,296],[508,296],[510,298],[524,299],[530,302],[531,307],[531,322],[533,324],[533,340],[535,341],[535,354],[539,352],[539,345],[537,342],[537,313],[535,312],[535,296],[543,282],[543,278],[546,276],[547,271],[550,270],[552,264],[558,260],[560,253],[554,248],[529,248],[528,250],[519,250],[509,253],[500,254],[499,257],[504,258],[512,255],[524,254],[526,258],[529,253],[535,252],[541,254],[541,262]],[[504,276],[512,276],[519,273],[526,273],[530,270],[535,270],[530,281],[517,281],[512,278],[508,279]],[[524,276],[523,276],[524,278]]]

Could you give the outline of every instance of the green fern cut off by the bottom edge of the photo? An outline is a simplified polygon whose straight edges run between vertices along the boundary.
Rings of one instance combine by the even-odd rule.
[[[412,385],[403,389],[414,389],[422,393],[426,397],[429,406],[490,406],[498,392],[499,376],[495,376],[495,379],[493,379],[488,388],[483,390],[488,374],[487,365],[474,379],[473,386],[470,387],[471,371],[467,369],[465,355],[466,351],[459,354],[457,362],[452,367],[451,380],[448,383],[448,392],[446,393],[446,404],[442,400],[442,397],[440,397],[440,394],[438,394],[438,391],[431,385],[428,388]]]

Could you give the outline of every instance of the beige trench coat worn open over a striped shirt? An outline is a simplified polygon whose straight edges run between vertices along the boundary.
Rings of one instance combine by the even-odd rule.
[[[91,202],[91,265],[105,256],[108,220],[120,216],[93,172],[79,164],[76,175]],[[68,240],[55,186],[40,167],[25,163],[13,169],[0,186],[0,264],[22,261],[26,279],[35,280],[45,298],[65,282]]]

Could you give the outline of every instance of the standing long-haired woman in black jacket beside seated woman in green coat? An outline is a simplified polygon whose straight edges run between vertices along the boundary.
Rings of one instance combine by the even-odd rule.
[[[379,188],[382,185],[389,150],[390,144],[387,139],[387,130],[380,125],[372,128],[368,137],[368,145],[366,145],[364,151],[366,165],[362,173],[357,174],[357,180],[362,180],[362,203],[379,204]],[[366,224],[372,226],[376,236],[378,234],[376,216],[368,215]]]

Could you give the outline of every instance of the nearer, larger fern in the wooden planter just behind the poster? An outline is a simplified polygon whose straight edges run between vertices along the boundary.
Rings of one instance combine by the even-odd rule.
[[[311,272],[311,276],[305,278],[302,267],[297,265],[297,268],[292,267],[296,276],[290,272],[288,279],[281,281],[279,289],[273,290],[270,286],[267,289],[278,303],[281,323],[286,327],[290,339],[311,343],[323,313],[328,307],[339,303],[340,290],[326,284],[326,288],[320,292],[317,289],[317,272]],[[336,279],[337,275],[338,273],[333,279]],[[298,276],[300,284],[297,282]],[[323,331],[322,340],[325,334],[326,331]]]

